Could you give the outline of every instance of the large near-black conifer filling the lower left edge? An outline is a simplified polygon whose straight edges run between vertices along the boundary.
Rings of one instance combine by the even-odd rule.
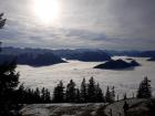
[[[20,115],[20,105],[13,99],[19,84],[19,73],[16,72],[16,61],[0,65],[0,116]]]

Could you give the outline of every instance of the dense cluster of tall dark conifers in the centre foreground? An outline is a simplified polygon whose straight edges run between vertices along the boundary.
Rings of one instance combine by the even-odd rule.
[[[115,101],[114,86],[110,89],[107,86],[106,93],[102,92],[100,84],[94,81],[94,77],[86,83],[83,78],[81,87],[78,88],[73,80],[64,87],[63,82],[60,81],[53,91],[53,103],[112,103]]]

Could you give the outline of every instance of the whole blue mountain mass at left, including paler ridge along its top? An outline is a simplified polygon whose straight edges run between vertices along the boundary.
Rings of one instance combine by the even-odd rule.
[[[10,62],[17,60],[18,64],[31,65],[31,66],[45,66],[58,63],[64,63],[60,56],[56,56],[48,50],[33,50],[33,49],[17,49],[4,48],[0,53],[0,63]]]

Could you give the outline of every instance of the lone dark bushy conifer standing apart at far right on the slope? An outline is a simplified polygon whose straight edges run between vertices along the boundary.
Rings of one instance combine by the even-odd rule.
[[[140,84],[137,91],[137,98],[151,98],[151,97],[152,97],[151,81],[146,76]]]

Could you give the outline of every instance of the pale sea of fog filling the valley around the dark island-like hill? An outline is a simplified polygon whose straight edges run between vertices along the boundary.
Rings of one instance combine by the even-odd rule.
[[[21,75],[20,82],[23,82],[28,87],[46,87],[52,92],[60,80],[66,85],[66,83],[73,78],[76,85],[80,86],[83,77],[89,80],[91,76],[94,76],[104,91],[107,85],[114,85],[120,97],[122,97],[125,92],[127,92],[127,96],[132,96],[133,92],[136,92],[140,82],[147,75],[148,78],[152,80],[153,92],[155,93],[155,62],[148,62],[143,57],[136,57],[136,61],[140,62],[142,66],[123,71],[97,70],[93,68],[93,66],[101,62],[80,61],[69,61],[69,63],[42,67],[19,65],[17,70]]]

